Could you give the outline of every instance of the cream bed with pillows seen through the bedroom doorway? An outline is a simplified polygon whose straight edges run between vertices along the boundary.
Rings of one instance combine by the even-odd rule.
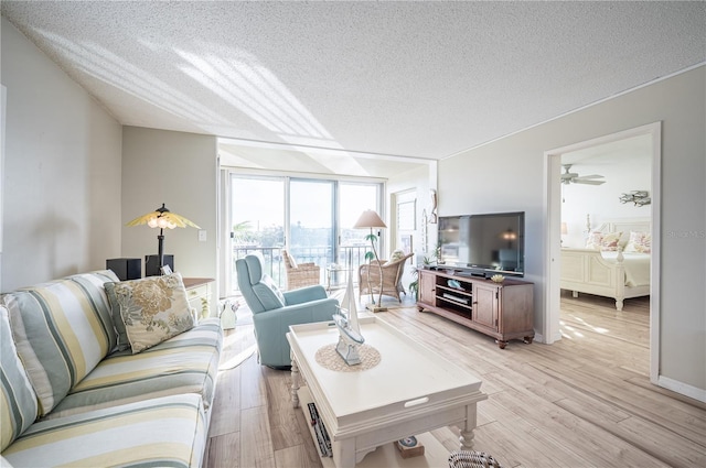
[[[560,287],[616,300],[616,309],[631,297],[650,295],[649,219],[616,220],[589,232],[587,248],[561,248]],[[602,239],[603,243],[590,243]]]

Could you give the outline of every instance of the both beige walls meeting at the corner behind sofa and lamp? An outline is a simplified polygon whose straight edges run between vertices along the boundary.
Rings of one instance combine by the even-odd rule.
[[[121,127],[4,18],[2,85],[2,291],[157,253],[157,230],[125,224],[162,203],[206,231],[165,233],[176,269],[216,277],[214,137]]]

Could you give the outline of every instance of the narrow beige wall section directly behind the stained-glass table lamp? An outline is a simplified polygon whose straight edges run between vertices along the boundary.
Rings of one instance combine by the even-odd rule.
[[[157,254],[158,229],[125,225],[165,204],[206,231],[205,242],[194,228],[164,231],[174,270],[217,279],[216,138],[139,127],[124,127],[122,135],[122,257]]]

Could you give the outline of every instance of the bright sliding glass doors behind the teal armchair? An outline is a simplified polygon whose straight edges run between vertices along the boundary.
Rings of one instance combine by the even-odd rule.
[[[284,249],[298,263],[318,264],[324,285],[342,284],[343,271],[365,262],[370,231],[353,225],[365,209],[381,213],[381,183],[232,173],[229,192],[231,294],[237,291],[235,261],[253,252],[280,286]]]

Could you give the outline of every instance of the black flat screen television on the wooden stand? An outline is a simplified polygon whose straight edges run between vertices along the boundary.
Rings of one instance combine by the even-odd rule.
[[[439,217],[439,263],[478,276],[524,276],[524,211]]]

